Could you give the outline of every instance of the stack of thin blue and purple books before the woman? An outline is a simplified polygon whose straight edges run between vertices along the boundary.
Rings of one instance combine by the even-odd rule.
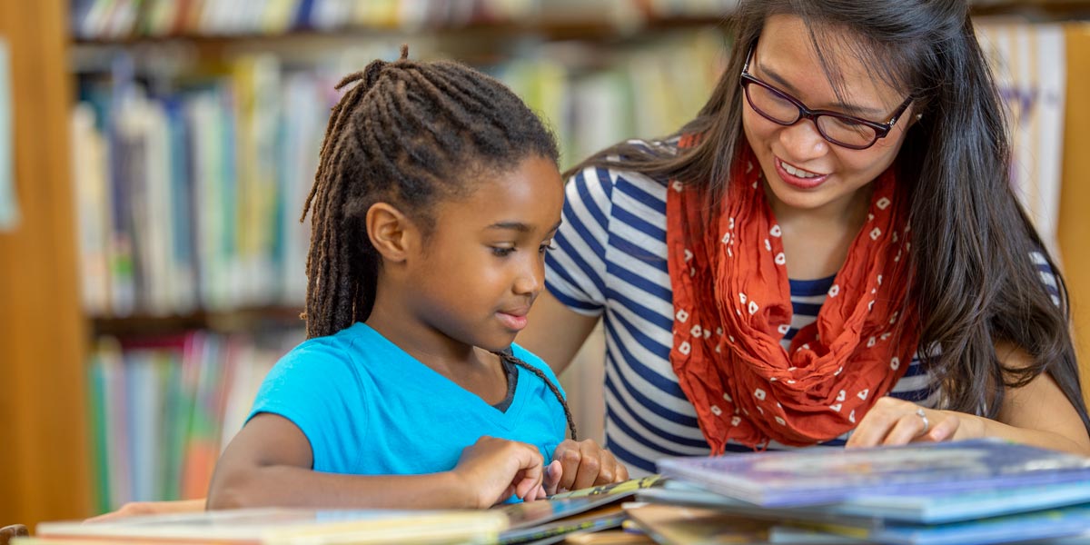
[[[671,458],[628,514],[659,543],[945,545],[1088,535],[1090,458],[997,439]],[[1049,542],[1053,543],[1053,542]]]

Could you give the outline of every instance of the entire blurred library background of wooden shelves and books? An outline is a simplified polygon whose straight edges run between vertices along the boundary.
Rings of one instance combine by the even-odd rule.
[[[469,62],[548,120],[570,166],[690,119],[735,3],[0,1],[0,525],[204,496],[303,339],[296,219],[341,75],[403,43]],[[1090,361],[1090,1],[973,10]],[[561,377],[598,438],[602,342]]]

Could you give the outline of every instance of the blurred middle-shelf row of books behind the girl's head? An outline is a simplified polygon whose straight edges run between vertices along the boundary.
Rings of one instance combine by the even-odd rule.
[[[545,118],[570,166],[632,134],[677,130],[706,99],[722,40],[690,31],[582,69],[568,60],[605,59],[557,45],[555,58],[484,68]],[[368,55],[397,56],[329,53],[301,68],[246,55],[162,74],[144,66],[154,57],[121,51],[108,72],[83,74],[72,131],[87,313],[301,306],[310,232],[298,220],[332,87]]]

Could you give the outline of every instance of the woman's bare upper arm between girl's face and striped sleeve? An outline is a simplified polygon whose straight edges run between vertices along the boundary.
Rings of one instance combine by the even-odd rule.
[[[526,328],[516,341],[545,360],[559,375],[568,368],[597,322],[597,316],[579,314],[545,290],[534,302]]]

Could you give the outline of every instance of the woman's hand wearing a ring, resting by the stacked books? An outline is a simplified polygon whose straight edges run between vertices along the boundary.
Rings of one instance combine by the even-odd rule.
[[[859,422],[846,446],[876,447],[979,437],[981,434],[968,429],[971,427],[971,419],[965,420],[968,416],[954,411],[924,409],[910,401],[884,397]]]

